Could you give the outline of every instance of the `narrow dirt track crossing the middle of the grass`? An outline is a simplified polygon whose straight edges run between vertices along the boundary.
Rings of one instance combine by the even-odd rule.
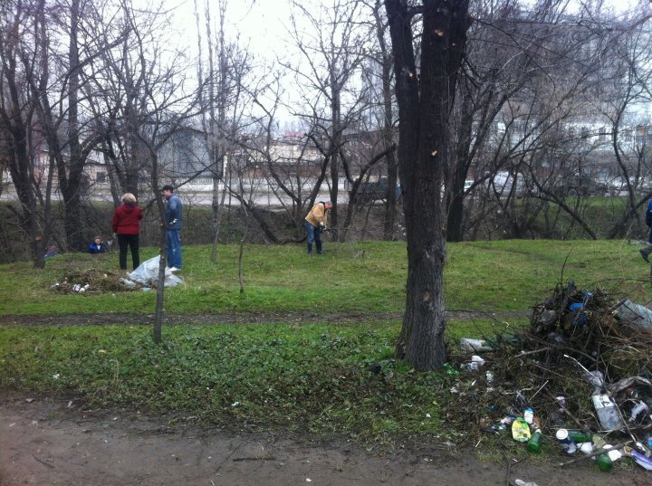
[[[510,310],[503,312],[479,312],[475,310],[447,310],[449,322],[461,319],[519,319],[527,318],[529,310]],[[346,324],[369,320],[401,320],[401,312],[221,312],[218,314],[171,314],[166,313],[164,324],[265,324],[265,323],[315,323],[328,322]],[[151,314],[14,314],[0,316],[2,326],[102,326],[102,325],[139,325],[151,324]]]

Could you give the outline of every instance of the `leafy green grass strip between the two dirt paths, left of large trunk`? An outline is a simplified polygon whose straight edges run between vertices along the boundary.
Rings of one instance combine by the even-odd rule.
[[[0,329],[0,386],[90,406],[384,440],[434,434],[451,376],[392,356],[399,324]]]

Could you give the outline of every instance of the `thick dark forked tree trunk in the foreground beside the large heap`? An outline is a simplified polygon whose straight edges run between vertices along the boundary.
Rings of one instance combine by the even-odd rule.
[[[442,218],[450,108],[469,26],[467,0],[423,5],[421,72],[412,48],[408,2],[388,0],[397,73],[398,163],[408,233],[408,284],[397,355],[419,370],[446,362]]]

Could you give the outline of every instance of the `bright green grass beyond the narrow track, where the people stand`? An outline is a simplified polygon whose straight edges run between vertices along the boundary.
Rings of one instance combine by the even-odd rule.
[[[229,312],[401,312],[405,306],[405,243],[328,243],[312,259],[302,247],[247,246],[245,293],[237,277],[237,246],[219,248],[216,263],[207,246],[184,249],[186,284],[166,292],[172,313]],[[575,280],[647,301],[648,267],[638,246],[624,241],[500,241],[447,246],[446,308],[527,310],[557,281]],[[143,260],[154,256],[149,248]],[[151,313],[153,292],[62,295],[50,286],[73,269],[118,268],[117,254],[64,254],[42,272],[28,262],[1,265],[0,315]]]

